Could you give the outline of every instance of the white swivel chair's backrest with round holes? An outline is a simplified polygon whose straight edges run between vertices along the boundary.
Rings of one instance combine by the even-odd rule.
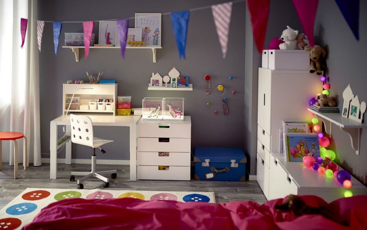
[[[93,147],[93,124],[88,116],[70,115],[71,142]]]

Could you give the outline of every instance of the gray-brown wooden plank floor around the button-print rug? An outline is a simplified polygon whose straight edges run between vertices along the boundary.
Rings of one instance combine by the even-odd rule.
[[[217,203],[250,200],[262,204],[266,201],[256,181],[129,181],[129,165],[97,165],[97,170],[118,169],[117,178],[111,180],[111,190],[151,190],[214,192]],[[29,167],[26,171],[19,164],[18,179],[13,179],[13,167],[2,163],[0,171],[0,209],[26,188],[76,189],[76,182],[70,182],[70,171],[88,171],[89,164],[58,164],[58,179],[49,179],[50,165]],[[84,189],[104,189],[98,179],[85,181]]]

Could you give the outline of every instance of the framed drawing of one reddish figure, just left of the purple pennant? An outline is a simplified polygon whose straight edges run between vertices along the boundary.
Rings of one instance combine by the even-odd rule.
[[[117,41],[116,21],[99,21],[98,44],[115,46]]]

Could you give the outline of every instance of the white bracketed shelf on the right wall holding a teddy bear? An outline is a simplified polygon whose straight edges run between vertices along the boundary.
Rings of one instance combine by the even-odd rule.
[[[357,155],[360,154],[361,129],[367,128],[366,123],[359,123],[352,119],[343,117],[339,113],[320,113],[310,108],[308,109],[308,111],[314,113],[316,117],[320,118],[323,121],[325,125],[325,131],[330,136],[332,136],[332,123],[338,125],[340,129],[347,132],[349,137],[351,138],[352,148],[356,150]]]

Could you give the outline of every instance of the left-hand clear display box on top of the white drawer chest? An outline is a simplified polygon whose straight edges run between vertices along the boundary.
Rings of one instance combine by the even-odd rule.
[[[142,119],[162,120],[163,98],[144,98]]]

